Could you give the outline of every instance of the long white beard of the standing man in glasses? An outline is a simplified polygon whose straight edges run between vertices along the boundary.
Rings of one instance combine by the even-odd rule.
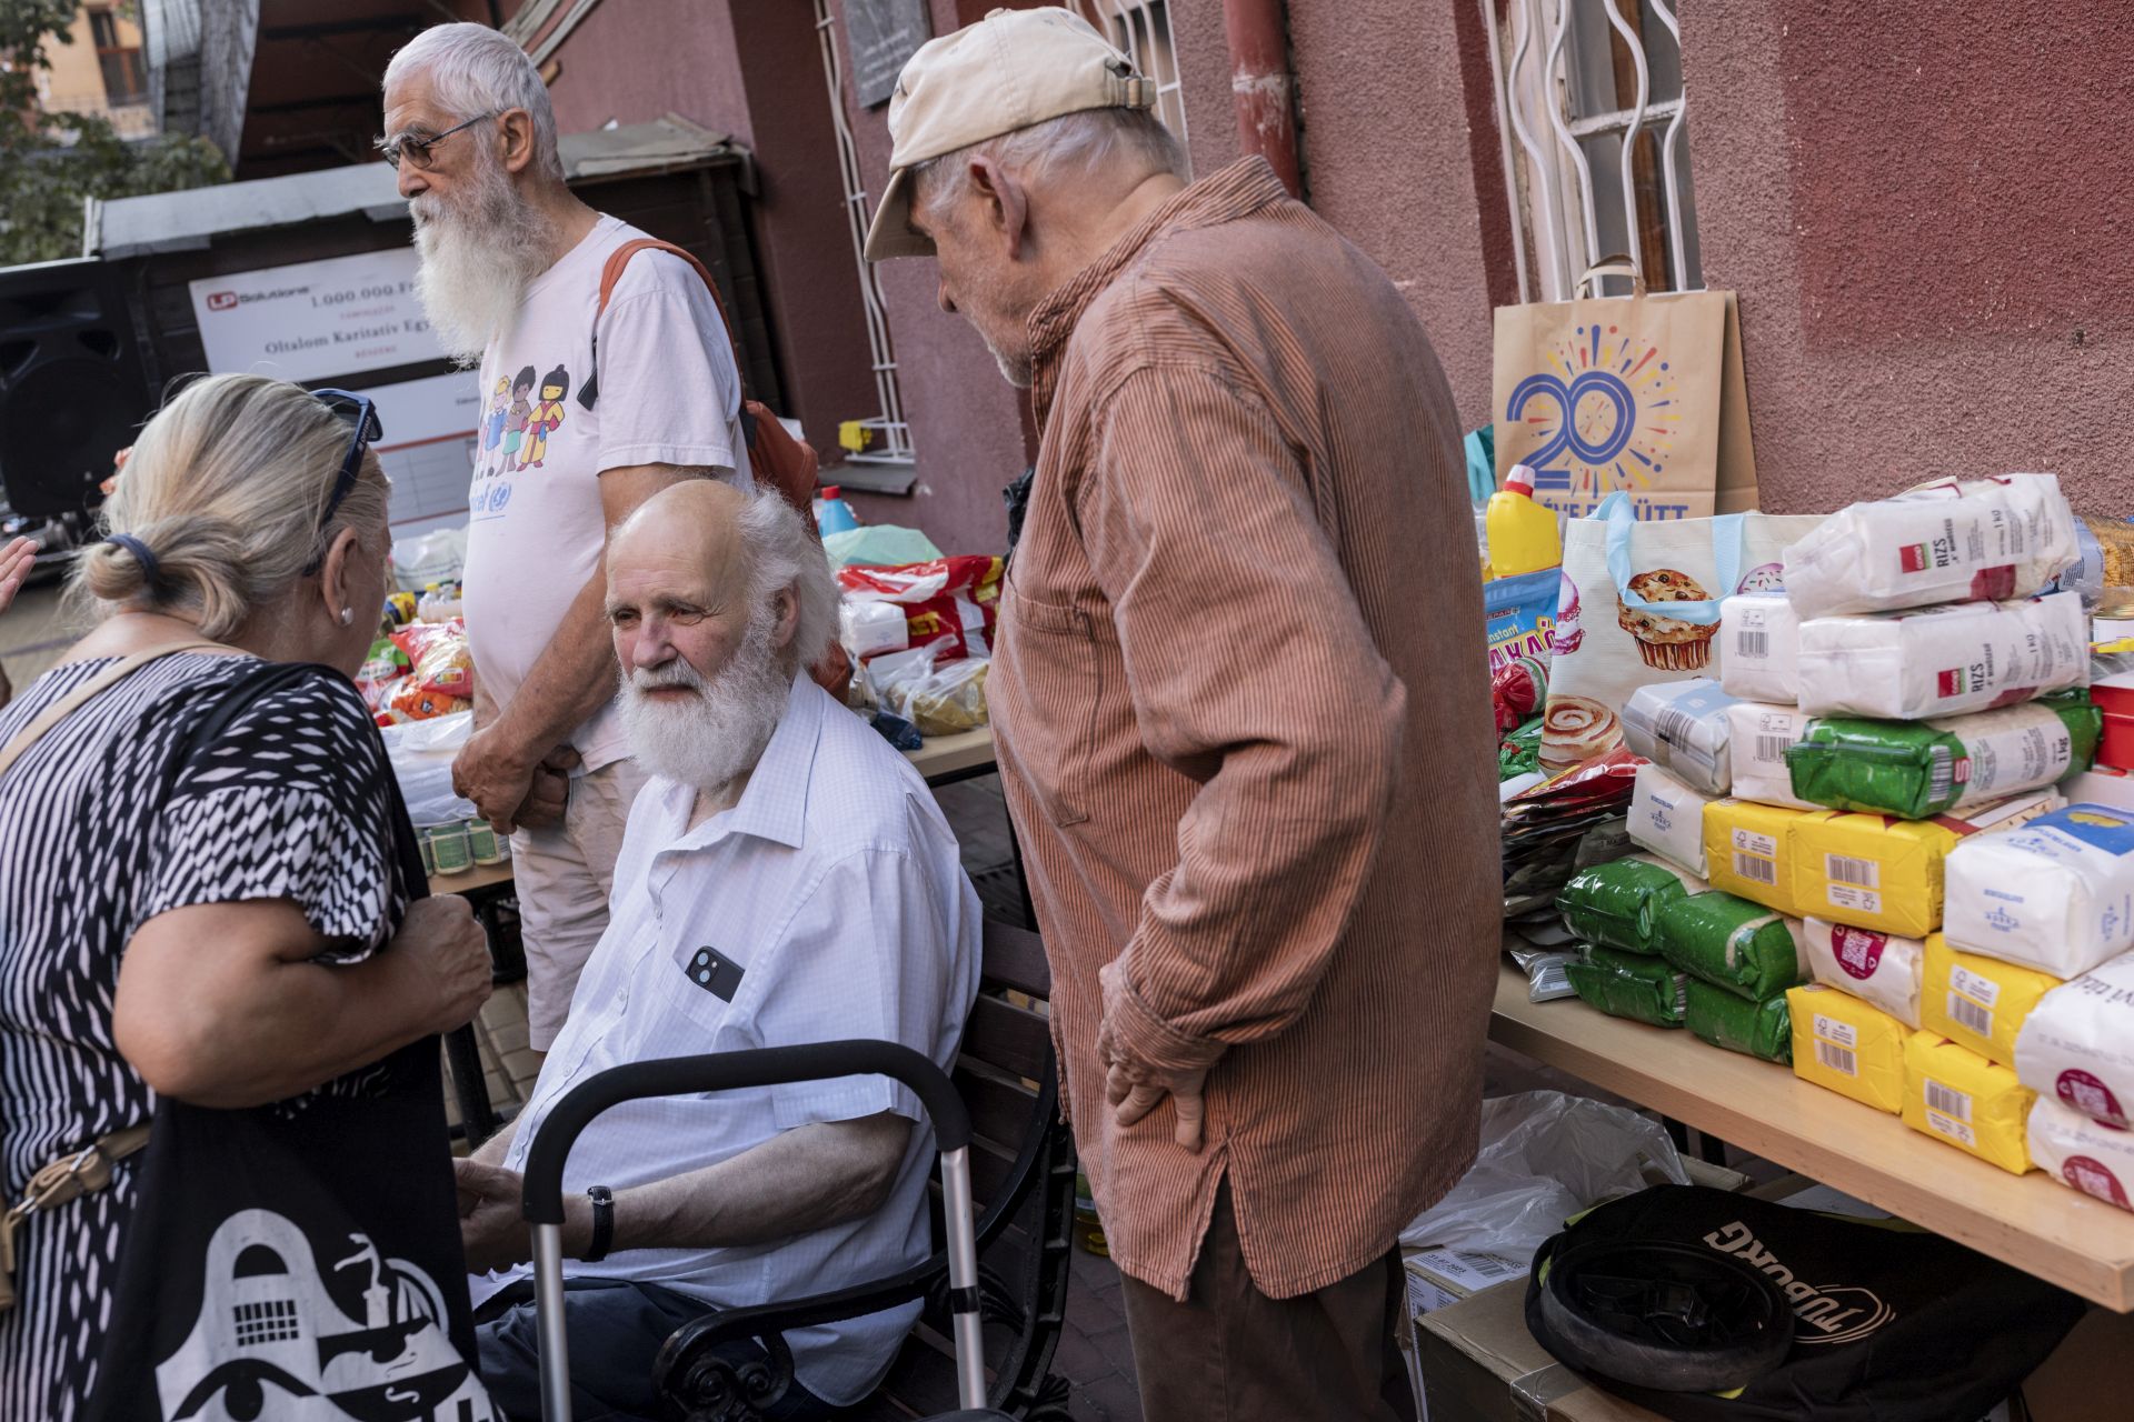
[[[455,365],[480,365],[489,343],[510,330],[527,286],[551,266],[553,224],[489,151],[461,198],[423,194],[408,207],[423,258],[414,290],[429,328]]]

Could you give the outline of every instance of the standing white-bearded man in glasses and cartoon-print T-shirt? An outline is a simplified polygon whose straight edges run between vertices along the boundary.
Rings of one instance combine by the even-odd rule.
[[[452,780],[516,831],[527,1036],[546,1051],[608,921],[642,785],[612,706],[602,542],[681,480],[749,484],[740,375],[711,292],[666,252],[630,258],[595,322],[608,256],[644,232],[563,185],[548,90],[510,38],[455,23],[410,41],[386,68],[384,134],[423,309],[444,350],[480,367],[465,569],[478,729]]]

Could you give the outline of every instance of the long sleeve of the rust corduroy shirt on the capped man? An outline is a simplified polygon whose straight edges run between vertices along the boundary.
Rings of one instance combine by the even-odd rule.
[[[1157,362],[1095,431],[1082,537],[1127,691],[1150,755],[1199,782],[1105,972],[1105,1025],[1127,1057],[1195,1070],[1310,1002],[1379,851],[1406,691],[1261,401]]]

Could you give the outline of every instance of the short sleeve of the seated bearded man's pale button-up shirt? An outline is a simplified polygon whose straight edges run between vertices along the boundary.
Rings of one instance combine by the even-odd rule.
[[[960,1021],[947,925],[926,868],[896,849],[851,853],[824,874],[779,944],[779,976],[751,1036],[764,1047],[841,1038],[911,1047],[941,1062],[943,1021]],[[894,1111],[924,1121],[888,1077],[834,1077],[770,1089],[779,1130]]]

